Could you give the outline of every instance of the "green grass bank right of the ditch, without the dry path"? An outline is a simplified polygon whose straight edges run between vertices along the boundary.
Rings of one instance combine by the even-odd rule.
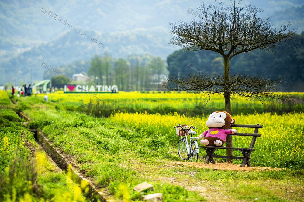
[[[79,169],[87,171],[88,177],[94,177],[95,182],[106,188],[110,194],[123,197],[119,194],[119,187],[125,185],[131,200],[143,199],[143,194],[133,191],[133,187],[143,182],[143,178],[134,171],[130,163],[123,166],[128,162],[126,153],[135,155],[139,161],[151,157],[152,161],[159,158],[178,159],[170,142],[164,137],[138,138],[135,132],[108,123],[106,119],[77,112],[58,112],[55,108],[42,112],[39,108],[25,111],[30,118],[35,118],[29,127],[42,129],[55,147],[61,148],[64,154],[73,156]],[[160,186],[157,182],[153,185],[154,191],[146,194],[162,192],[164,196],[168,196],[164,201],[204,200],[195,192],[188,192],[181,186],[169,183]]]

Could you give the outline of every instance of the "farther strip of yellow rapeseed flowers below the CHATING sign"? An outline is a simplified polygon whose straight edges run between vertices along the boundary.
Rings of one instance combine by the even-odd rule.
[[[275,108],[280,114],[283,112],[301,112],[304,111],[303,95],[304,93],[289,93],[295,99],[294,102],[282,102],[278,100],[266,100],[272,108]],[[44,94],[37,94],[38,98],[43,100]],[[201,116],[203,113],[211,113],[216,110],[224,110],[224,98],[221,94],[212,94],[210,101],[204,98],[203,94],[194,94],[187,92],[121,92],[119,93],[56,93],[48,94],[49,100],[58,102],[62,105],[71,105],[74,107],[93,105],[92,114],[108,117],[113,111],[121,112],[144,112],[150,114],[168,114],[178,112],[187,116]],[[254,114],[274,111],[261,104],[237,97],[231,102],[234,114]],[[95,108],[94,108],[95,107]],[[100,111],[100,113],[99,113]]]

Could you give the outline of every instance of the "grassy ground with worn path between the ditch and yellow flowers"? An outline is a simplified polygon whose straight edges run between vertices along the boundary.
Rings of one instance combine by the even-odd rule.
[[[163,201],[300,201],[304,193],[302,170],[216,170],[201,162],[181,163],[166,136],[145,136],[36,98],[21,101],[30,106],[23,110],[33,119],[30,128],[41,130],[81,174],[121,200],[161,192]],[[143,181],[154,191],[133,191]]]

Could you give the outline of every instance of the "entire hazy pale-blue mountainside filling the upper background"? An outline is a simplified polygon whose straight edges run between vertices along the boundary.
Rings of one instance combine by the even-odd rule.
[[[56,67],[89,60],[94,54],[103,55],[105,51],[114,58],[149,53],[165,59],[179,49],[168,46],[170,23],[189,22],[194,16],[187,8],[196,9],[202,2],[208,4],[212,0],[2,0],[0,85],[10,81],[19,84],[23,80],[29,83],[30,70],[33,70],[33,81],[41,80],[42,62]],[[226,4],[230,1],[226,0]],[[271,16],[275,26],[291,21],[299,28],[298,33],[303,30],[302,0],[241,2],[241,5],[248,4],[262,8],[265,12],[261,16]],[[67,28],[68,25],[72,29]],[[97,43],[90,41],[89,36]]]

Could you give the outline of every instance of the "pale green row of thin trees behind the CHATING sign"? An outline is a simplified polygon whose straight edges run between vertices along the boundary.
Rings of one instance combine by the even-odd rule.
[[[88,65],[88,62],[82,63]],[[89,68],[84,66],[78,72],[89,77],[85,83],[80,81],[78,84],[117,85],[119,91],[160,90],[164,75],[168,73],[166,62],[161,57],[146,54],[114,59],[107,53],[103,56],[94,55]],[[52,86],[61,88],[67,83],[70,82],[63,76],[52,77]]]

